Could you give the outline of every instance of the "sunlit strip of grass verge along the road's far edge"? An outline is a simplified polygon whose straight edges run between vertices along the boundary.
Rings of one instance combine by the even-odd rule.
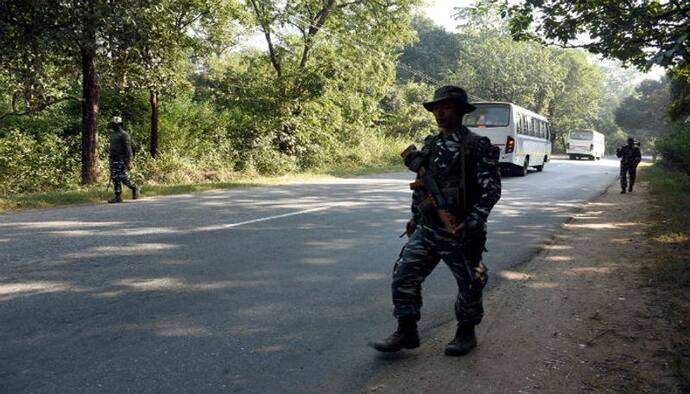
[[[305,182],[329,177],[363,176],[377,173],[403,171],[402,165],[362,165],[324,169],[319,172],[301,173],[285,176],[241,175],[229,182],[208,182],[175,185],[142,185],[142,197],[168,196],[204,192],[209,190],[235,189],[257,186],[270,186],[294,182]],[[91,186],[75,188],[61,192],[20,194],[0,196],[0,213],[17,212],[28,209],[54,208],[79,204],[102,204],[113,197],[112,186]],[[129,190],[124,188],[123,197],[130,197]]]

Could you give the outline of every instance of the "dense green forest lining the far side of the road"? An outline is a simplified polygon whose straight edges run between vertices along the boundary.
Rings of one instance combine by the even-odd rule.
[[[488,1],[459,33],[412,18],[417,0],[42,3],[0,2],[0,194],[105,185],[113,115],[140,182],[397,162],[444,83],[543,113],[556,149],[575,127],[625,137],[631,72],[514,42]]]

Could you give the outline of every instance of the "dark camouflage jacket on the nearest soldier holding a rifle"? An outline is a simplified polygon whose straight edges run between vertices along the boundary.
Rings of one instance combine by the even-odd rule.
[[[422,152],[427,156],[425,167],[440,188],[460,184],[460,203],[451,212],[470,228],[483,226],[491,209],[501,198],[499,148],[491,145],[488,138],[463,127],[448,138],[443,138],[440,133],[428,136]],[[464,163],[461,157],[464,157]],[[428,225],[434,223],[428,216],[435,217],[436,213],[422,212],[420,203],[424,198],[426,192],[423,190],[413,193],[412,214],[418,223]],[[436,224],[440,225],[438,221]]]

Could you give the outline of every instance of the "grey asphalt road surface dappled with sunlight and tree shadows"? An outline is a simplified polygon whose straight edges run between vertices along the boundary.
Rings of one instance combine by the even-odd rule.
[[[554,160],[505,177],[491,285],[617,168]],[[412,177],[0,215],[0,392],[357,391],[395,362],[366,342],[395,325],[390,273]],[[440,264],[423,331],[453,319],[454,294]]]

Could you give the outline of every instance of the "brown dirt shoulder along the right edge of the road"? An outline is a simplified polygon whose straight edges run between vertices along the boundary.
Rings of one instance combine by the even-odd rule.
[[[420,349],[379,356],[390,365],[364,391],[685,392],[666,357],[677,338],[663,294],[643,274],[655,258],[649,194],[645,184],[619,190],[587,204],[532,261],[498,273],[473,353],[444,356],[455,327],[440,327]]]

